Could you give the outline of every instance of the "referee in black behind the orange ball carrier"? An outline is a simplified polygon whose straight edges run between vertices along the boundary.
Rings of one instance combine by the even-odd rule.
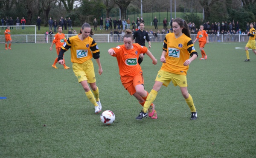
[[[138,43],[139,45],[146,46],[145,40],[148,41],[148,48],[151,48],[151,42],[148,37],[148,33],[144,30],[144,23],[140,22],[140,29],[138,31],[134,32],[134,39],[135,43]],[[138,63],[140,64],[143,61],[145,54],[140,54]]]

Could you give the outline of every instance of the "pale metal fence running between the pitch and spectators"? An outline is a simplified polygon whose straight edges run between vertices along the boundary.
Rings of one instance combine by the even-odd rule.
[[[122,42],[124,34],[95,34],[93,35],[93,39],[96,42]],[[163,42],[166,34],[157,34],[154,36],[153,34],[148,34],[151,42]],[[75,36],[74,34],[66,34],[66,38]],[[197,34],[191,34],[191,39],[195,40]],[[54,35],[44,35],[44,34],[28,34],[28,35],[11,35],[12,42],[14,43],[51,43]],[[247,42],[249,37],[242,36],[241,34],[219,34],[212,35],[209,34],[209,42]],[[0,43],[5,42],[5,36],[0,35]]]

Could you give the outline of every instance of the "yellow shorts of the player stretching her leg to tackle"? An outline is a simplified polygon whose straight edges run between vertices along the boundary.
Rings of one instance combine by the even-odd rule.
[[[172,81],[174,86],[187,87],[186,75],[180,75],[176,73],[169,73],[167,71],[160,70],[157,73],[155,81],[162,82],[164,86],[168,86]]]

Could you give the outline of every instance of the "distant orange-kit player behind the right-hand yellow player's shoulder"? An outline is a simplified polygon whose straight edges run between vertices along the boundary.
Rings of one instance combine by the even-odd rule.
[[[204,45],[206,43],[209,43],[209,37],[208,37],[207,32],[204,30],[203,25],[200,25],[200,30],[198,31],[198,35],[193,43],[195,43],[196,40],[198,40],[198,42],[199,42],[199,48],[200,48],[200,51],[202,54],[202,57],[200,58],[200,60],[207,59],[207,55],[205,54],[205,51],[204,51]]]

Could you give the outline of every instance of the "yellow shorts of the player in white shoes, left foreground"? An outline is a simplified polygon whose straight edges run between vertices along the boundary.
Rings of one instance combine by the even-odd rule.
[[[73,71],[78,79],[78,82],[87,80],[88,83],[96,82],[93,61],[91,59],[82,64],[73,63]]]

